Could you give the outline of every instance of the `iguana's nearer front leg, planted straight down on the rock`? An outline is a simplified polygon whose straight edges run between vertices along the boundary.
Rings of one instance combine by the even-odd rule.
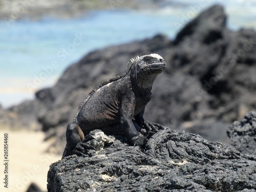
[[[133,124],[133,115],[135,109],[135,97],[133,93],[127,94],[129,97],[123,97],[120,108],[120,126],[127,141],[132,145],[144,146],[147,139],[140,137],[136,127]]]

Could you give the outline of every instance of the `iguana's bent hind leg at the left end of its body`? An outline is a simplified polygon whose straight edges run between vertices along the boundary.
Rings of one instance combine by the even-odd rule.
[[[84,134],[81,128],[74,122],[69,123],[66,131],[67,145],[62,155],[67,157],[73,155],[73,150],[75,149],[77,143],[81,142],[84,139]]]

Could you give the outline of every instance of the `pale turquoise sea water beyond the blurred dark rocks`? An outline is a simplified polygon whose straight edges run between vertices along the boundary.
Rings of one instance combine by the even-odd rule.
[[[0,103],[7,108],[33,98],[36,90],[52,86],[71,63],[95,49],[158,33],[175,38],[186,22],[216,3],[225,7],[230,29],[256,29],[254,0],[182,0],[154,11],[91,11],[81,18],[9,24],[0,20]]]

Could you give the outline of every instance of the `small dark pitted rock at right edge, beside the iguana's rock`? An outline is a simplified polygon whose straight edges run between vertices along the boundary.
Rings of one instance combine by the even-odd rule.
[[[229,145],[241,153],[256,155],[256,112],[247,113],[227,130]]]

